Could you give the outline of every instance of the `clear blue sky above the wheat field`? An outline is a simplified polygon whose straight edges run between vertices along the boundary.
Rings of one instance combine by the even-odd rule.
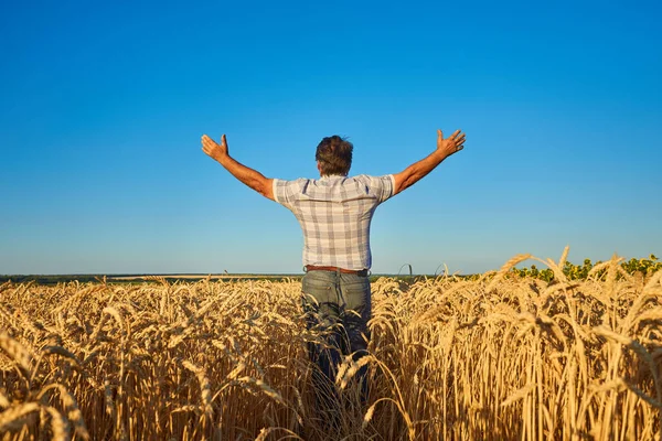
[[[99,3],[99,4],[96,4]],[[291,213],[200,146],[316,176],[463,151],[377,208],[373,272],[662,255],[662,7],[4,2],[0,273],[300,272]]]

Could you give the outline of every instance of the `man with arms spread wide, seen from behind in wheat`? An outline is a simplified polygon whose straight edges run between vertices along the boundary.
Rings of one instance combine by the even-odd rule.
[[[370,223],[375,208],[389,197],[414,185],[446,158],[462,150],[465,133],[456,130],[444,138],[437,131],[437,148],[404,171],[384,176],[349,176],[353,146],[332,136],[317,147],[320,179],[282,181],[265,178],[233,158],[225,135],[221,143],[202,137],[202,150],[233,176],[289,208],[303,230],[303,309],[308,325],[323,332],[325,345],[309,344],[313,384],[320,410],[337,409],[333,380],[343,356],[354,361],[366,355],[371,318],[369,270]],[[356,374],[366,399],[365,366]],[[333,418],[333,417],[332,417]]]

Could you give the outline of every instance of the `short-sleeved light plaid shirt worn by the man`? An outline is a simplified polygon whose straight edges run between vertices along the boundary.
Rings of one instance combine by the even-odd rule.
[[[303,230],[303,265],[370,269],[370,223],[377,205],[393,196],[395,179],[340,175],[274,180],[276,202]]]

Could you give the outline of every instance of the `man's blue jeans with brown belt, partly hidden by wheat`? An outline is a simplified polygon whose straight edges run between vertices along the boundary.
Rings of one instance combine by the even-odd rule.
[[[352,354],[354,361],[367,354],[372,313],[370,279],[367,276],[340,271],[309,271],[301,280],[303,311],[308,329],[319,331],[324,344],[308,343],[308,354],[318,367],[312,380],[317,404],[321,411],[335,412],[338,391],[335,374],[343,356]],[[367,366],[354,376],[361,387],[361,401],[367,399]]]

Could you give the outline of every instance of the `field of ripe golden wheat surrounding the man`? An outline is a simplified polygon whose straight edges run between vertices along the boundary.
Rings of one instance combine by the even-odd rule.
[[[316,412],[298,281],[0,286],[0,439],[653,440],[662,271],[373,283],[370,399]],[[601,271],[606,270],[606,271]],[[599,276],[598,276],[599,275]]]

